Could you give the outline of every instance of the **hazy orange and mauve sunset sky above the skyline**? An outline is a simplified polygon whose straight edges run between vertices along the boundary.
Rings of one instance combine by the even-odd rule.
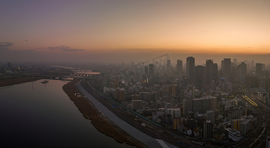
[[[270,0],[0,0],[0,18],[2,62],[270,63]]]

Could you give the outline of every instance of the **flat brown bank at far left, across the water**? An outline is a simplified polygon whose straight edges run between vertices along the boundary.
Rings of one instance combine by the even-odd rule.
[[[44,77],[38,76],[5,76],[0,78],[0,86],[9,86],[15,84],[21,84],[26,82],[32,82],[39,79],[44,79]]]

